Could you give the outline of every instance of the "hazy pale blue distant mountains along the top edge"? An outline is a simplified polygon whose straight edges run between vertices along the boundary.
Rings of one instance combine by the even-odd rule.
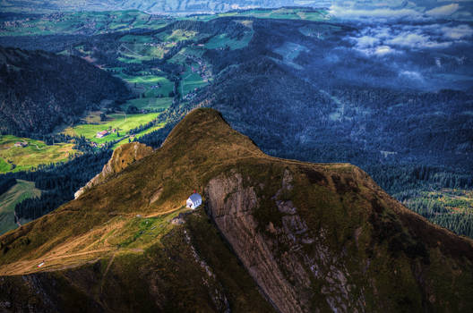
[[[2,0],[4,12],[47,13],[54,11],[107,11],[137,9],[148,13],[212,13],[255,7],[311,6],[331,8],[331,13],[342,18],[359,16],[400,17],[431,16],[470,19],[473,2],[437,0],[390,0],[379,2],[342,0]]]

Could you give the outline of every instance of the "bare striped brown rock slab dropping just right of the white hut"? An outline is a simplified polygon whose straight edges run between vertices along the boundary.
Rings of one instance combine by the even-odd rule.
[[[261,206],[256,189],[241,173],[221,175],[209,182],[206,199],[209,213],[237,257],[267,299],[280,312],[312,312],[312,281],[328,283],[319,292],[335,312],[363,312],[363,294],[348,296],[350,286],[346,266],[331,255],[324,244],[324,232],[314,235],[297,214],[291,200],[280,195],[294,187],[292,175],[284,172],[280,190],[271,197],[280,211],[280,224],[269,222],[264,231],[254,217]],[[307,253],[310,246],[312,253]],[[320,311],[315,309],[315,311]]]

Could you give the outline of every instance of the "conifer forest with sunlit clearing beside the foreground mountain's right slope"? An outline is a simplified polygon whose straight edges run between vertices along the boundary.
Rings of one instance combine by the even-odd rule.
[[[473,238],[473,207],[466,200],[446,200],[442,193],[445,188],[452,189],[450,193],[472,190],[473,173],[428,165],[372,165],[366,167],[366,172],[412,211],[453,233]]]

